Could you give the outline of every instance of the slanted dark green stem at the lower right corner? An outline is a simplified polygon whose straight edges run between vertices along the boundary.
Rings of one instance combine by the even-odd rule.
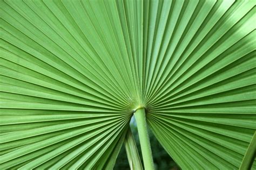
[[[253,164],[255,154],[256,154],[256,131],[253,134],[251,143],[247,148],[247,151],[245,153],[244,158],[242,159],[242,163],[239,169],[241,170],[250,169]]]

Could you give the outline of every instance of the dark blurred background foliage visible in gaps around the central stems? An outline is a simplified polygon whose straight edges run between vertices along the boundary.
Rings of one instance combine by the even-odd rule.
[[[143,165],[142,151],[141,151],[141,148],[139,145],[139,135],[138,135],[138,130],[137,130],[137,124],[136,124],[136,121],[134,121],[134,117],[132,117],[132,119],[131,119],[130,127],[131,127],[131,131],[132,131],[134,140],[135,140],[137,148],[138,148],[140,161],[142,161],[142,165]],[[150,137],[150,144],[151,144],[151,149],[152,149],[152,153],[153,153],[155,169],[156,170],[180,169],[178,167],[178,165],[176,164],[176,162],[174,162],[174,160],[172,160],[170,155],[160,145],[160,143],[156,139],[156,137],[154,137],[150,128],[147,129],[147,132],[149,133],[149,137]],[[124,145],[122,146],[122,148],[120,150],[120,153],[119,153],[117,161],[116,161],[116,165],[114,166],[114,170],[118,170],[118,169],[122,169],[122,170],[130,169]]]

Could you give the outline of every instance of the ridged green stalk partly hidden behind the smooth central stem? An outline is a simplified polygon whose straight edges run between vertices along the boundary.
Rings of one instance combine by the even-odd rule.
[[[136,169],[136,170],[143,169],[142,162],[140,162],[139,153],[138,153],[137,146],[134,141],[130,127],[127,130],[127,133],[124,139],[124,145],[125,145],[125,150],[126,150],[130,168]]]

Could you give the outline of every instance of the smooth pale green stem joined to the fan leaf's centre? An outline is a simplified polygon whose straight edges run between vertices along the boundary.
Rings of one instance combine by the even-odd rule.
[[[147,134],[147,123],[146,123],[145,109],[144,108],[137,109],[134,112],[134,116],[135,116],[135,119],[137,122],[140,147],[142,148],[142,157],[143,157],[143,162],[144,162],[144,168],[146,170],[154,169],[149,134]]]

